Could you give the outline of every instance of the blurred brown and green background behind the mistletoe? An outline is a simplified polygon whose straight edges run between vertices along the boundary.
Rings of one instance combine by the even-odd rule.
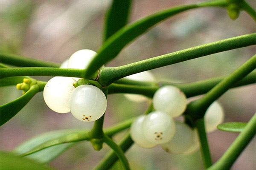
[[[133,22],[148,14],[195,0],[133,0]],[[247,1],[253,8],[254,0]],[[61,63],[80,49],[97,51],[102,45],[105,13],[111,0],[0,0],[0,49],[35,59]],[[223,8],[200,8],[178,14],[130,43],[106,66],[119,66],[156,57],[196,45],[256,31],[253,19],[245,12],[231,20]],[[154,69],[157,81],[194,82],[230,74],[253,56],[255,46],[226,51],[190,61]],[[51,77],[35,77],[49,80]],[[15,87],[0,89],[0,104],[20,95]],[[229,90],[219,99],[226,116],[224,122],[248,122],[256,112],[256,86]],[[122,94],[108,96],[104,127],[142,114],[148,102],[134,103]],[[0,149],[12,150],[32,136],[51,130],[91,128],[70,113],[58,114],[47,108],[42,93],[37,94],[20,113],[0,129]],[[124,133],[114,137],[116,141]],[[213,161],[227,150],[238,133],[220,130],[208,134]],[[253,141],[233,165],[232,170],[255,170],[256,141]],[[91,170],[109,151],[104,146],[94,151],[89,142],[80,142],[50,163],[59,170]],[[143,149],[133,145],[126,153],[133,170],[201,170],[198,150],[188,156],[168,154],[156,147]],[[112,169],[120,169],[116,164]]]

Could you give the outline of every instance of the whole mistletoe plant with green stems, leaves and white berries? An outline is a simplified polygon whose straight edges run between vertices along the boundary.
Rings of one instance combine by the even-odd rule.
[[[226,8],[233,20],[239,17],[240,11],[246,11],[255,21],[256,12],[244,0],[210,0],[169,8],[126,25],[130,6],[131,0],[113,0],[106,15],[104,42],[99,51],[97,53],[88,50],[76,52],[70,57],[66,66],[1,52],[1,87],[17,85],[17,89],[22,90],[23,95],[12,102],[1,105],[0,125],[12,119],[35,94],[41,91],[44,91],[45,102],[53,111],[58,113],[71,111],[73,116],[81,121],[95,121],[90,130],[58,130],[27,141],[12,153],[1,152],[1,169],[51,170],[52,168],[41,163],[52,161],[76,142],[90,141],[95,150],[101,150],[103,143],[112,149],[99,162],[95,170],[107,170],[118,159],[123,168],[129,170],[128,159],[124,153],[134,142],[148,148],[161,144],[166,151],[184,153],[194,150],[189,147],[192,143],[196,144],[198,139],[207,170],[230,169],[255,135],[256,116],[254,115],[248,123],[233,122],[218,125],[220,130],[235,131],[240,134],[215,164],[212,164],[205,127],[207,127],[208,119],[218,117],[218,111],[215,109],[210,111],[210,108],[219,107],[218,104],[212,106],[215,100],[230,88],[256,82],[256,71],[253,71],[256,68],[256,55],[226,77],[200,82],[158,83],[138,81],[129,76],[140,75],[138,73],[222,51],[255,45],[256,33],[211,42],[119,67],[104,67],[104,65],[114,59],[128,43],[138,36],[181,12],[195,8],[219,7]],[[5,64],[17,67],[10,68]],[[53,76],[54,78],[49,82],[44,82],[29,76]],[[104,117],[108,116],[104,114],[107,107],[106,97],[108,94],[116,93],[153,97],[153,105],[150,105],[145,112],[148,115],[131,118],[103,129]],[[186,97],[201,94],[204,94],[201,98],[186,104]],[[212,117],[207,118],[208,112],[211,112]],[[185,118],[185,124],[173,120],[173,117],[180,115]],[[217,124],[221,122],[221,119],[217,121]],[[131,136],[127,133],[119,144],[111,139],[113,135],[129,127],[131,127]],[[40,160],[40,154],[48,155],[47,160]]]

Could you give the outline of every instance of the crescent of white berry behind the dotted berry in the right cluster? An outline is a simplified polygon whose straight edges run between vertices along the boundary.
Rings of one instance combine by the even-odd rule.
[[[132,124],[130,128],[131,139],[138,144],[140,147],[151,148],[155,147],[157,144],[149,142],[145,139],[142,132],[142,123],[146,115],[139,116]]]

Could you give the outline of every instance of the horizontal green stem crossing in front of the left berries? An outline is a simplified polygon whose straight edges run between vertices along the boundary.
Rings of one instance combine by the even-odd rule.
[[[85,69],[48,67],[0,68],[0,78],[14,76],[82,77],[84,71]]]

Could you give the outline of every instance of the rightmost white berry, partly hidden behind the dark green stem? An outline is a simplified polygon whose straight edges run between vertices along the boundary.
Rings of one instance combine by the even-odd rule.
[[[212,132],[217,129],[217,125],[221,124],[224,120],[224,109],[217,101],[213,102],[204,116],[204,124],[206,131]]]

